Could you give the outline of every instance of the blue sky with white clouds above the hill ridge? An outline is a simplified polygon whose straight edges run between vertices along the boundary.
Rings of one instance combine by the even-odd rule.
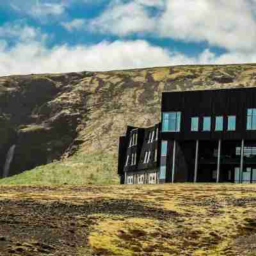
[[[0,76],[256,62],[256,0],[2,0]]]

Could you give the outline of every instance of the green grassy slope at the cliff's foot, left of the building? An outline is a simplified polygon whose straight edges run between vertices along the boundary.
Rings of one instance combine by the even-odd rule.
[[[81,154],[0,180],[11,184],[118,184],[115,154]]]

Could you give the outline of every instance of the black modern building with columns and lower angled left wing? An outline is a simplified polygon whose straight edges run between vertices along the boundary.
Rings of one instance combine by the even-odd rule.
[[[148,132],[156,127],[157,142],[148,143]],[[256,182],[256,88],[163,93],[156,127],[128,127],[120,138],[121,183],[150,183],[151,172],[156,183]],[[135,131],[138,140],[132,148],[129,138]],[[150,160],[144,163],[147,150]],[[156,161],[151,158],[154,150]],[[135,151],[136,164],[131,165]]]

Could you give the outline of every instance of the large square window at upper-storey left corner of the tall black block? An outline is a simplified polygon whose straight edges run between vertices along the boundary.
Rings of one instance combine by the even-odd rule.
[[[180,112],[163,113],[163,132],[179,132],[180,116]]]

